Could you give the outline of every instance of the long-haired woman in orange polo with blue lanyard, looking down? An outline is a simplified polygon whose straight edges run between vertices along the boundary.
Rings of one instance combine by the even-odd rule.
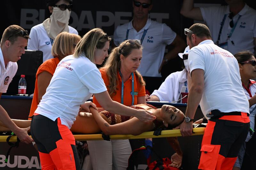
[[[142,59],[142,46],[139,40],[122,42],[110,53],[101,77],[112,100],[126,106],[146,103],[145,82],[137,71]],[[93,103],[101,107],[95,97]],[[128,116],[111,114],[111,124],[129,120]],[[114,119],[113,119],[114,118]],[[87,141],[93,169],[126,169],[132,153],[126,140]],[[102,154],[104,153],[104,154]]]

